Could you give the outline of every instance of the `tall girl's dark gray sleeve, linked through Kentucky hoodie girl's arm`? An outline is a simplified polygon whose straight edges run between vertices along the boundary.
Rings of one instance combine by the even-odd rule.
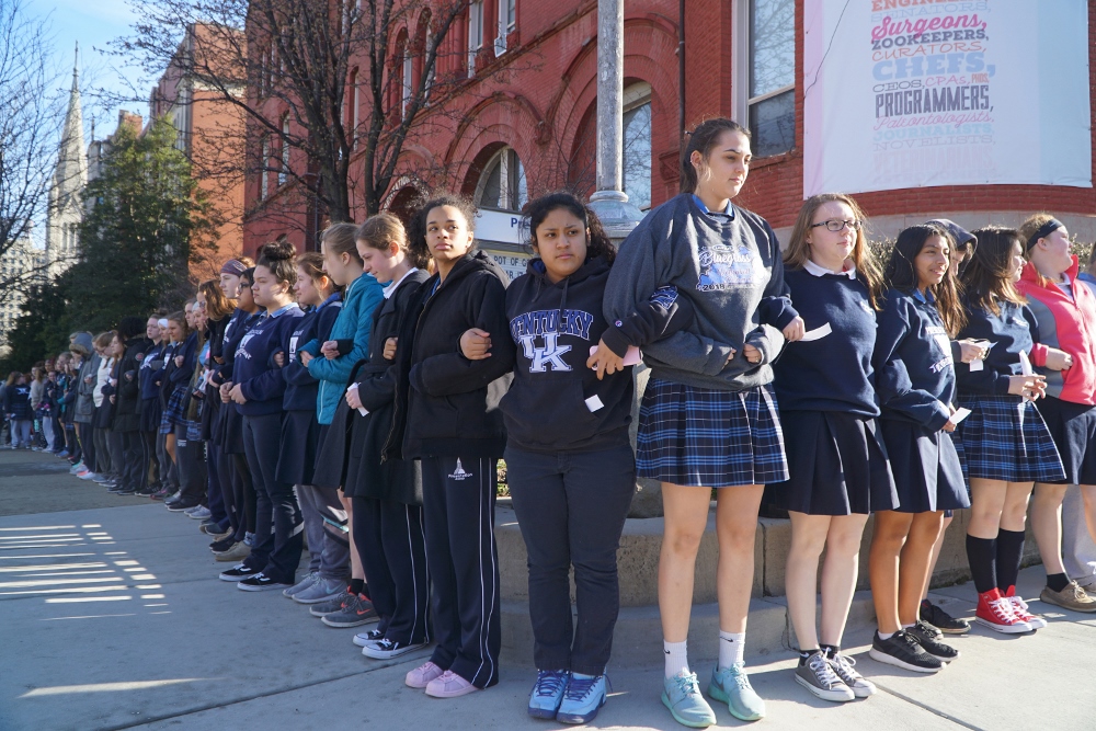
[[[671,231],[659,230],[660,222],[661,227],[672,230],[673,219],[650,218],[653,220],[642,221],[625,239],[613,263],[603,306],[609,322],[626,319],[647,302],[655,289],[674,284]],[[678,252],[678,256],[682,255],[688,256],[686,252]],[[686,330],[650,343],[643,351],[660,363],[707,376],[719,374],[734,353],[726,343]]]

